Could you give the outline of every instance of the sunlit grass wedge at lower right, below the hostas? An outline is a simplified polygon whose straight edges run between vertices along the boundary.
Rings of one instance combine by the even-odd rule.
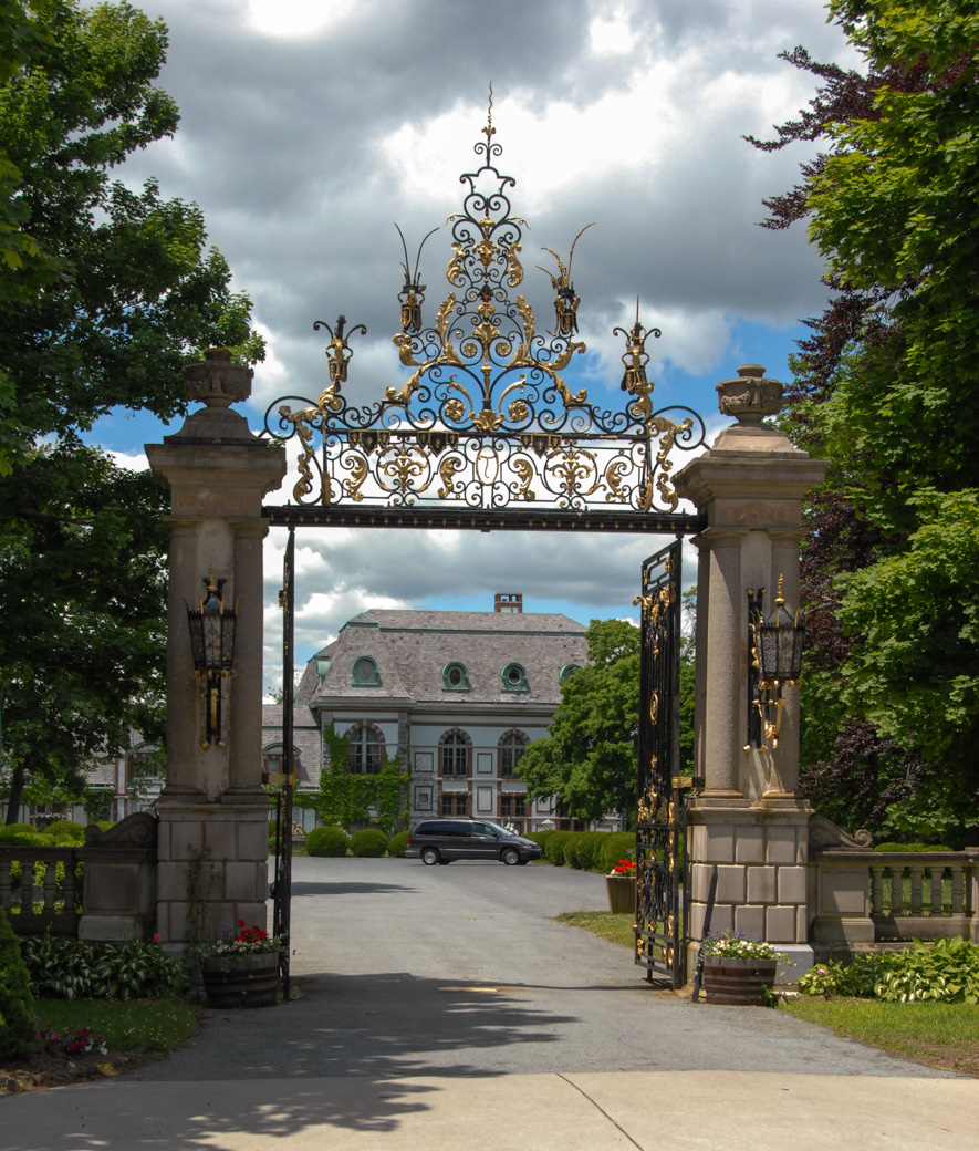
[[[800,996],[781,1009],[928,1067],[979,1076],[979,1005]]]

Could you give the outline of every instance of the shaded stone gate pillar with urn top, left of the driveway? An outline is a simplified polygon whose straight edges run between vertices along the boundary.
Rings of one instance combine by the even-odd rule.
[[[261,787],[262,497],[285,475],[285,452],[259,440],[230,404],[252,372],[213,348],[184,368],[189,416],[147,444],[170,489],[167,594],[167,783],[160,795],[158,928],[166,944],[220,936],[238,918],[266,927],[268,802]],[[205,746],[202,681],[194,678],[188,608],[223,579],[237,607],[234,676],[222,680],[221,739]]]

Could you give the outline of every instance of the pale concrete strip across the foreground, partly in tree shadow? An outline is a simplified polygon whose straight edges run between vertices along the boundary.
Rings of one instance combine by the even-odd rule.
[[[150,1083],[0,1100],[3,1151],[966,1151],[979,1082],[617,1072]]]

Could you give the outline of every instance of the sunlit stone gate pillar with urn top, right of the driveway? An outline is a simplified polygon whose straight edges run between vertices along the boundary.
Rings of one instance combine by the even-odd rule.
[[[703,937],[708,889],[717,866],[711,930],[743,931],[793,956],[793,978],[811,965],[808,945],[809,816],[798,782],[798,701],[789,688],[778,747],[748,744],[748,595],[779,579],[798,608],[802,498],[827,464],[810,459],[762,420],[778,412],[782,384],[745,365],[718,384],[719,407],[737,424],[675,477],[676,493],[706,517],[697,590],[696,763],[705,779],[689,809],[694,961]],[[804,673],[804,669],[803,669]],[[693,969],[693,968],[691,968]]]

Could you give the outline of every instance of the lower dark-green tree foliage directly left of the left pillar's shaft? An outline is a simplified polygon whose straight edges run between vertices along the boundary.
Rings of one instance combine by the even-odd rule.
[[[0,703],[16,820],[37,778],[82,795],[128,731],[162,739],[166,493],[82,445],[0,482]]]

